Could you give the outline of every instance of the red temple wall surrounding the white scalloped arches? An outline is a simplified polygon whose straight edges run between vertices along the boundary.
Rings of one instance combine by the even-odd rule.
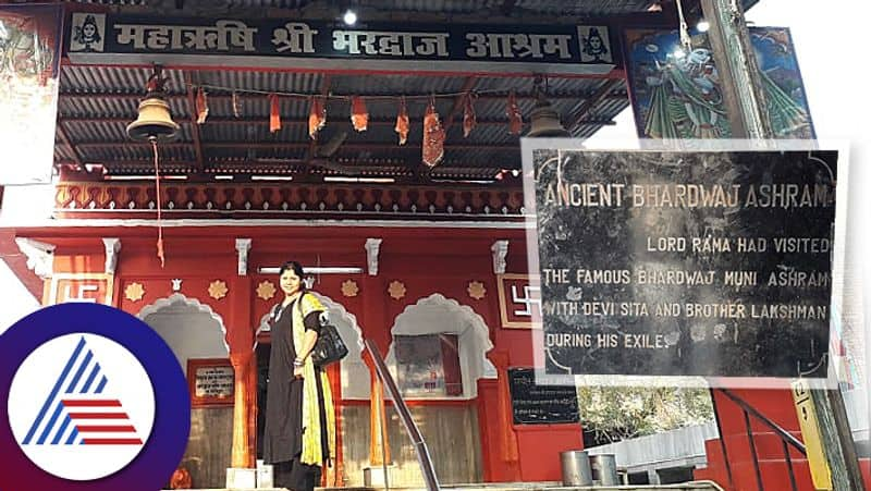
[[[579,425],[517,426],[512,421],[506,370],[533,365],[531,331],[501,328],[490,247],[496,240],[510,240],[506,272],[526,272],[523,230],[174,228],[164,230],[164,268],[160,267],[156,255],[152,229],[64,229],[35,235],[38,240],[58,244],[57,270],[66,272],[101,272],[103,254],[99,237],[120,237],[122,247],[115,272],[115,305],[137,314],[145,306],[170,296],[173,293],[171,280],[182,279],[180,293],[210,306],[221,317],[232,353],[250,351],[254,330],[279,299],[279,293],[268,300],[258,298],[256,289],[261,281],[269,280],[278,287],[274,275],[257,273],[258,267],[275,267],[295,259],[304,265],[356,266],[365,271],[366,238],[381,237],[378,275],[365,272],[324,274],[314,287],[356,316],[364,335],[373,340],[383,354],[388,352],[390,329],[396,316],[432,294],[455,299],[483,318],[494,344],[488,357],[500,377],[499,380],[479,381],[476,403],[484,479],[559,480],[559,453],[582,445]],[[240,277],[236,271],[236,237],[253,240],[245,277]],[[224,298],[209,296],[209,284],[216,280],[224,281],[229,287]],[[341,286],[346,280],[356,281],[357,296],[342,294]],[[388,294],[393,281],[404,283],[404,297],[395,299]],[[483,283],[484,298],[475,299],[469,295],[470,281]],[[136,302],[124,295],[133,282],[145,289],[144,297]],[[339,378],[333,379],[338,394]]]

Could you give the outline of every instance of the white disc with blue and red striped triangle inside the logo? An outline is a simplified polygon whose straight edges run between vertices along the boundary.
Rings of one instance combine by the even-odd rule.
[[[27,458],[53,476],[88,481],[139,454],[155,421],[155,391],[124,346],[97,334],[66,334],[21,364],[8,410]]]

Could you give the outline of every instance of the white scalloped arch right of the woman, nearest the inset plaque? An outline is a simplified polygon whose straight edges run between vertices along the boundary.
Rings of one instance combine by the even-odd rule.
[[[455,317],[459,322],[445,326],[445,318]],[[459,339],[459,364],[463,377],[463,398],[478,396],[478,379],[495,378],[496,369],[487,359],[487,353],[493,348],[490,330],[483,318],[471,307],[462,305],[453,298],[445,298],[439,293],[419,299],[405,307],[390,329],[394,335],[424,335],[452,333]],[[388,367],[394,372],[396,356],[391,341],[387,356]]]

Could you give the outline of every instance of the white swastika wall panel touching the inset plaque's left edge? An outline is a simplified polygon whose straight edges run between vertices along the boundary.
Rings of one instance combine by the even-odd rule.
[[[499,315],[505,329],[541,329],[538,274],[498,274]]]

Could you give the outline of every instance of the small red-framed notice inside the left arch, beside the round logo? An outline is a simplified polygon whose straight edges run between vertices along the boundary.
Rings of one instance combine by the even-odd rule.
[[[188,359],[187,385],[193,407],[233,405],[235,373],[226,358]]]

